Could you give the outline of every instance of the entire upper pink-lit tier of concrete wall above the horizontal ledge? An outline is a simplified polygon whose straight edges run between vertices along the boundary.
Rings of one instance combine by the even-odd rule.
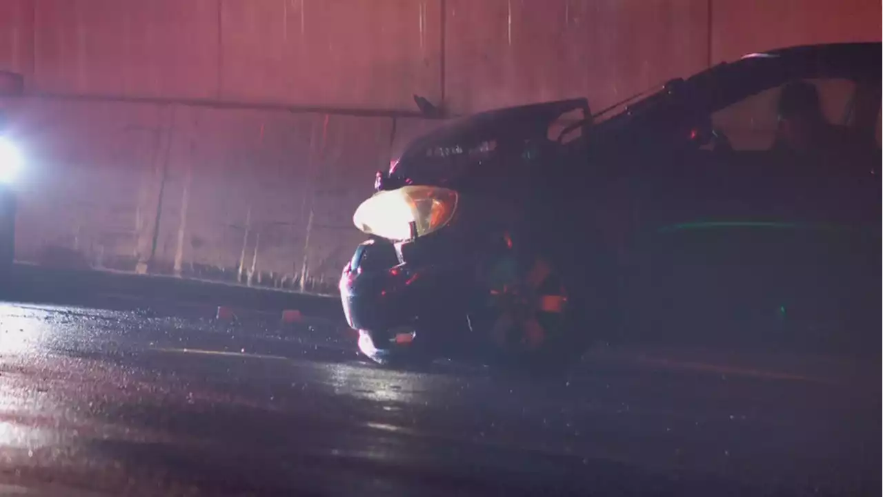
[[[603,106],[747,51],[883,40],[879,0],[4,0],[30,94],[457,112]]]

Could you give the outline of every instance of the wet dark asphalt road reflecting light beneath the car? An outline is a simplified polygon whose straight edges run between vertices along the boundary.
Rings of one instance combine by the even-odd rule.
[[[0,304],[0,494],[879,495],[881,368],[657,347],[399,372],[321,327]]]

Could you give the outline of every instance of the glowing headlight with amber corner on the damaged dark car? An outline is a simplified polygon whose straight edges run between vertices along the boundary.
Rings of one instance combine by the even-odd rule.
[[[410,240],[442,228],[457,210],[457,192],[410,186],[377,192],[352,216],[356,227],[392,241]]]

